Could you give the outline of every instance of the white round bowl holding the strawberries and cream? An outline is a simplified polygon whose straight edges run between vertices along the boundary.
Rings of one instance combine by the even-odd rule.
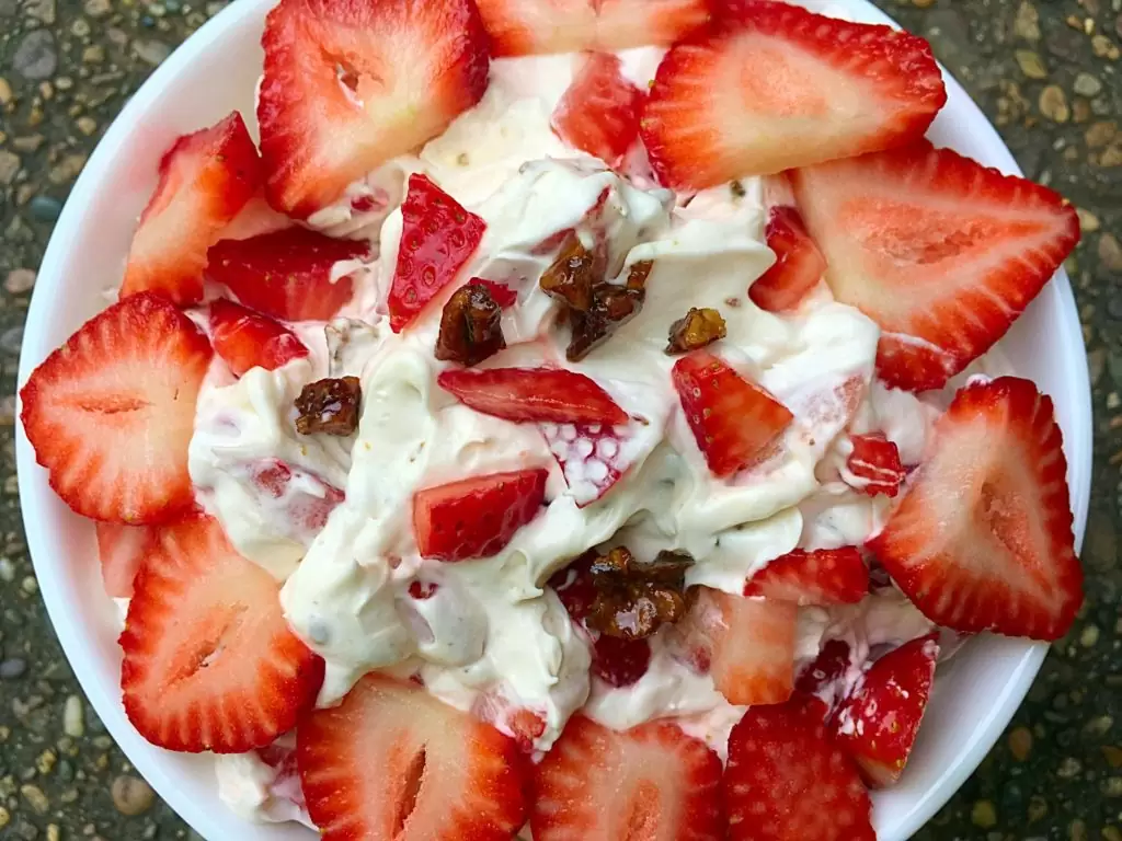
[[[39,270],[27,317],[20,382],[105,305],[122,276],[136,220],[156,183],[160,154],[181,133],[241,110],[252,121],[259,46],[274,0],[239,0],[202,27],[140,89],[79,178]],[[808,2],[808,6],[822,3]],[[865,0],[838,0],[854,18],[891,22]],[[1012,156],[963,89],[947,77],[949,102],[931,137],[1006,173]],[[1017,323],[1002,348],[1014,369],[1051,395],[1064,429],[1077,545],[1091,486],[1091,394],[1083,334],[1063,270]],[[90,702],[159,795],[209,841],[312,841],[302,826],[250,825],[218,798],[212,761],[146,742],[120,703],[117,617],[103,595],[93,525],[52,492],[22,428],[16,441],[27,540],[47,611]],[[903,841],[950,797],[1001,734],[1048,647],[982,637],[940,667],[914,754],[900,785],[874,795],[880,841]]]

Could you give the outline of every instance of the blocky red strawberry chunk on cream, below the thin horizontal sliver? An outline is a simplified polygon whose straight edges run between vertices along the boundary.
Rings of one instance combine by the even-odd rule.
[[[425,488],[413,497],[413,533],[422,557],[489,557],[541,510],[544,468],[490,473]]]

